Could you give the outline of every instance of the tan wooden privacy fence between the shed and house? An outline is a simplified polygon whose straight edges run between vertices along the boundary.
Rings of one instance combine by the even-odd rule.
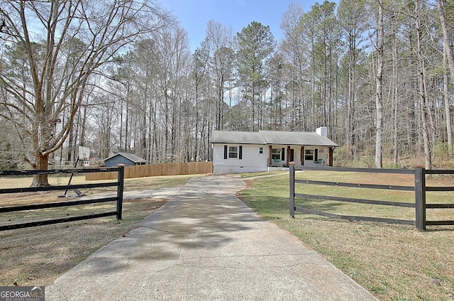
[[[125,179],[159,175],[197,175],[213,172],[213,162],[147,164],[125,167]],[[85,180],[115,180],[116,173],[88,173]]]

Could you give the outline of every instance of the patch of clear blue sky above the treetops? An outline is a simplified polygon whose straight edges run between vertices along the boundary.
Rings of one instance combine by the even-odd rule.
[[[191,49],[199,47],[205,38],[206,24],[210,20],[220,22],[226,28],[232,28],[233,34],[241,31],[251,22],[257,21],[270,26],[275,40],[282,37],[279,27],[282,14],[287,11],[292,0],[158,0],[165,9],[172,11],[184,28],[191,43]],[[333,0],[331,0],[333,1]],[[316,2],[323,0],[293,0],[310,11]],[[338,2],[338,0],[335,0]]]

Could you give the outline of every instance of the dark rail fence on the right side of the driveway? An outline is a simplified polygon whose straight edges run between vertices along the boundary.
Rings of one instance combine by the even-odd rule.
[[[297,180],[295,179],[295,170],[330,170],[336,172],[355,172],[355,173],[394,173],[394,174],[412,174],[414,175],[414,186],[394,186],[394,185],[374,185],[374,184],[360,184],[360,183],[346,183],[346,182],[325,182],[325,181],[312,181],[312,180]],[[304,212],[308,214],[321,215],[323,217],[331,217],[338,219],[350,219],[357,221],[377,221],[390,224],[409,224],[415,225],[416,229],[420,231],[426,230],[426,226],[436,225],[454,225],[454,220],[450,221],[427,221],[426,209],[454,209],[454,204],[426,204],[426,192],[431,191],[454,191],[454,187],[427,187],[426,175],[454,175],[454,170],[425,170],[424,168],[415,168],[414,170],[397,170],[397,169],[377,169],[377,168],[331,168],[331,167],[310,167],[310,166],[295,166],[290,165],[290,216],[294,217],[294,212]],[[404,202],[389,202],[379,201],[373,199],[353,199],[348,197],[329,197],[323,195],[304,195],[295,193],[296,184],[310,184],[310,185],[330,185],[338,187],[356,187],[365,189],[381,189],[381,190],[404,190],[415,192],[414,203]],[[380,217],[356,217],[341,214],[331,214],[328,212],[321,212],[314,209],[307,209],[295,206],[295,197],[306,199],[323,199],[332,200],[336,202],[354,202],[360,204],[394,206],[394,207],[410,207],[415,208],[415,220],[404,219],[385,219]],[[454,213],[454,212],[453,212]]]

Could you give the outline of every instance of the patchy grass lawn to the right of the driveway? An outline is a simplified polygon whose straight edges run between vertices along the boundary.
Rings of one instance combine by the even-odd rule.
[[[297,173],[303,180],[414,185],[409,175]],[[454,226],[428,227],[353,222],[297,213],[289,217],[289,176],[248,180],[243,202],[265,219],[296,235],[380,300],[454,300]],[[453,177],[431,177],[428,185],[454,186]],[[297,185],[297,192],[414,202],[414,192]],[[432,192],[428,202],[453,203],[454,192]],[[297,199],[297,207],[348,214],[413,219],[414,209]],[[428,211],[433,219],[454,219],[454,209]]]

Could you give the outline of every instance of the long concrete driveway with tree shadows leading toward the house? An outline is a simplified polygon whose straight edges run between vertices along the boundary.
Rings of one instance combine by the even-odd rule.
[[[45,288],[46,300],[377,300],[236,197],[195,177],[138,227]]]

